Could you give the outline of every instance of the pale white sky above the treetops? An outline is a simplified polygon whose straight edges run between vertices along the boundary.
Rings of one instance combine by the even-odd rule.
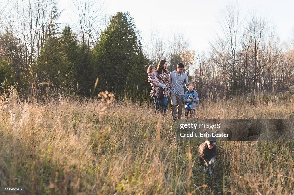
[[[61,1],[61,9],[68,9],[70,0]],[[150,29],[160,30],[163,36],[171,31],[183,33],[190,43],[190,49],[200,52],[209,48],[216,36],[217,17],[231,0],[105,0],[104,13],[114,15],[118,11],[129,11],[141,37],[146,40]],[[294,38],[293,0],[242,0],[238,1],[241,15],[250,15],[253,10],[276,27],[281,42]],[[61,14],[61,21],[68,21],[68,12]]]

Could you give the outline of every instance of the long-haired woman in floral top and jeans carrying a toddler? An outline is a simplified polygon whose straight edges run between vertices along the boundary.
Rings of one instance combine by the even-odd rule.
[[[163,113],[163,115],[165,115],[166,113],[167,97],[171,96],[171,85],[169,84],[169,74],[166,67],[167,62],[165,60],[160,60],[156,69],[159,82],[165,85],[162,96],[160,96],[160,87],[155,87],[158,86],[158,84],[155,82],[153,83],[155,86],[152,87],[150,92],[150,96],[154,99],[155,111],[158,111],[160,109],[161,104],[161,112]]]

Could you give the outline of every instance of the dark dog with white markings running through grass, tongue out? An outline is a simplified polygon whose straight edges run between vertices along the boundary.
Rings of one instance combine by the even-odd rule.
[[[209,175],[212,176],[211,166],[214,165],[214,160],[218,152],[216,147],[216,137],[213,137],[207,130],[205,130],[204,133],[210,134],[211,136],[206,137],[205,142],[199,146],[199,161],[203,172],[206,171],[206,165],[209,169]],[[219,133],[219,130],[214,134],[216,133]]]

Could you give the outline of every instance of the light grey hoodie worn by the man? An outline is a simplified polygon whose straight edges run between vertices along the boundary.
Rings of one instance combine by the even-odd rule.
[[[184,87],[188,89],[188,75],[185,72],[177,74],[177,71],[169,73],[169,83],[171,84],[171,93],[184,95]]]

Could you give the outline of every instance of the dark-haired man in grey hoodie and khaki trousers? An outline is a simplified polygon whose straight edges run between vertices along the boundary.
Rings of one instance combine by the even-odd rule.
[[[184,87],[188,89],[188,75],[183,72],[185,66],[178,63],[177,70],[169,74],[171,84],[171,114],[173,121],[181,118],[183,109]]]

